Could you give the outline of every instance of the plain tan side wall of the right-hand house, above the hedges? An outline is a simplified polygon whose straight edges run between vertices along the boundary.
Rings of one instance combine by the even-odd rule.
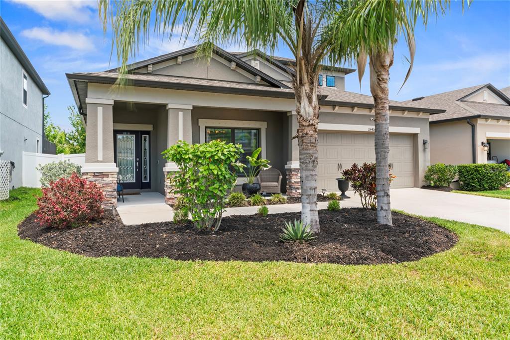
[[[471,126],[466,120],[430,124],[430,163],[472,163]]]

